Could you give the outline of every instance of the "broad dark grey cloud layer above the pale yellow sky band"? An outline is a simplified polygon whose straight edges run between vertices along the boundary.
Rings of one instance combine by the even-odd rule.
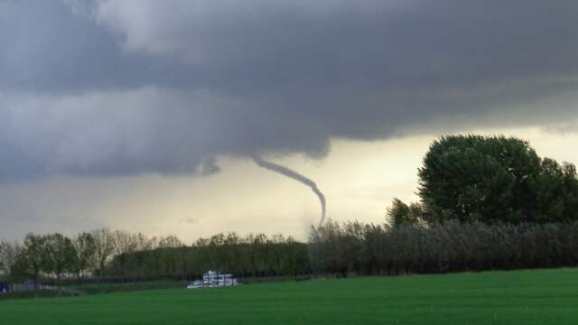
[[[565,119],[577,22],[574,0],[0,2],[0,179]]]

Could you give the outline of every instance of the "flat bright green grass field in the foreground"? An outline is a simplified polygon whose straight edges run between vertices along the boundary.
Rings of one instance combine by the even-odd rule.
[[[0,302],[1,324],[578,324],[578,270],[363,277]]]

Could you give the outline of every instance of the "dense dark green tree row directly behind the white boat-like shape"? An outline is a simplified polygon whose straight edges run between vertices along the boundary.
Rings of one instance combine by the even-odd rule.
[[[311,274],[307,245],[292,237],[218,234],[191,246],[165,246],[116,255],[108,274],[116,277],[198,277],[207,270],[240,277]]]

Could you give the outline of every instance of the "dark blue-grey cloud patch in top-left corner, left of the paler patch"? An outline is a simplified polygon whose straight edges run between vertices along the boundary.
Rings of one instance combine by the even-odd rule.
[[[179,61],[121,51],[87,14],[61,1],[0,2],[0,88],[62,94],[194,84]]]

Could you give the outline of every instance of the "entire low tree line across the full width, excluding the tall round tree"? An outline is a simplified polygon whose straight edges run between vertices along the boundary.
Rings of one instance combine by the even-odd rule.
[[[299,274],[430,274],[578,265],[578,222],[481,223],[452,220],[390,225],[329,220],[312,228],[309,244],[291,237],[235,233],[200,238],[145,237],[98,230],[68,238],[25,237],[0,244],[0,267],[14,281],[191,278],[209,269],[240,277]]]

